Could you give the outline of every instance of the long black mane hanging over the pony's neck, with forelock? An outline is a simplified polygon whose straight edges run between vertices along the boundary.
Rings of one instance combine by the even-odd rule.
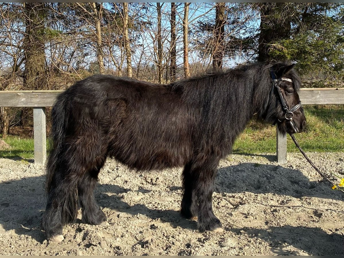
[[[227,140],[232,141],[244,130],[254,113],[258,113],[259,119],[264,119],[265,103],[271,89],[270,69],[287,65],[289,63],[286,62],[242,64],[235,68],[206,71],[173,82],[170,86],[182,95],[185,103],[199,110],[203,135],[219,142],[230,135],[231,139]],[[286,77],[293,80],[298,91],[301,82],[297,73],[291,70]],[[229,128],[230,134],[226,132]]]

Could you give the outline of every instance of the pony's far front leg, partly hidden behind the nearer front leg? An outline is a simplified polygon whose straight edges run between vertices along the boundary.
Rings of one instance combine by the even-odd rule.
[[[183,198],[181,215],[186,219],[197,217],[197,203],[194,196],[194,176],[191,174],[191,162],[184,166],[183,170]]]

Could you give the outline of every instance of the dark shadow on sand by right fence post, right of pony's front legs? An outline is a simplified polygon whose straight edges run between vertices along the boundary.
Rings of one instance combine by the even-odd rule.
[[[219,168],[215,191],[226,193],[274,193],[295,198],[303,196],[343,200],[326,181],[310,181],[300,170],[280,165],[241,163]]]

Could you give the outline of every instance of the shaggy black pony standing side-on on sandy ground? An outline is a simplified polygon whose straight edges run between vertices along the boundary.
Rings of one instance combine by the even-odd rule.
[[[275,88],[271,71],[280,79]],[[277,122],[282,133],[294,132],[276,88],[289,107],[299,104],[293,65],[240,65],[168,85],[109,75],[77,82],[52,108],[42,219],[47,238],[63,240],[63,225],[75,220],[78,201],[84,223],[107,223],[94,190],[108,156],[135,170],[183,166],[181,214],[197,216],[201,232],[221,229],[212,209],[214,178],[248,121],[257,114]],[[293,124],[303,131],[302,107],[294,110]]]

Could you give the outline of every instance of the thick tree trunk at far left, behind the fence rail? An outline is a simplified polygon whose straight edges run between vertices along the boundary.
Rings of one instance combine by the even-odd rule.
[[[25,90],[43,89],[46,85],[44,53],[44,3],[25,3],[24,54]]]

